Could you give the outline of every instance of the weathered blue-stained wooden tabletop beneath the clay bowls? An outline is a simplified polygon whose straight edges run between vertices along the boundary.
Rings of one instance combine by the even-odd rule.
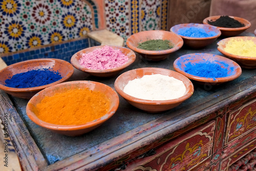
[[[182,48],[160,62],[148,62],[138,58],[123,72],[142,67],[173,70],[173,61],[187,53],[203,52],[221,55],[217,50],[216,42],[202,50]],[[76,70],[71,80],[94,80],[114,87],[115,79],[116,77],[95,78]],[[255,70],[243,70],[238,79],[217,87],[194,84],[195,92],[191,98],[177,108],[159,114],[142,112],[120,97],[119,109],[109,121],[96,130],[79,137],[57,135],[37,126],[26,115],[28,100],[11,97],[17,111],[10,103],[8,108],[13,110],[9,113],[11,117],[19,118],[19,121],[10,119],[9,123],[12,125],[10,136],[13,143],[25,142],[15,145],[24,170],[31,170],[29,165],[34,168],[32,170],[37,170],[37,168],[45,170],[47,163],[49,165],[46,170],[97,170],[115,159],[182,129],[189,123],[204,118],[255,92],[255,82]],[[3,94],[0,97],[1,106],[3,106],[3,103],[10,100],[2,91],[1,94]],[[7,106],[5,110],[8,109]]]

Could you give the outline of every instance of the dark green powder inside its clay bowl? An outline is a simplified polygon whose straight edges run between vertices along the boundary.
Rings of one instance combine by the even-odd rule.
[[[157,39],[144,41],[137,48],[148,51],[163,51],[173,48],[173,45],[169,40]]]

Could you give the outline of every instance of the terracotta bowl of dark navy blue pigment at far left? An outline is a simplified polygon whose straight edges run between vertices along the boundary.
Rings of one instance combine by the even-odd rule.
[[[73,66],[65,60],[26,60],[0,71],[0,89],[12,96],[30,99],[47,87],[67,81],[73,73]]]

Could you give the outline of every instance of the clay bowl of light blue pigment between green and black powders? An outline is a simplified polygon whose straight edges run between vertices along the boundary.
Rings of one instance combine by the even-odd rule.
[[[170,31],[181,36],[184,46],[192,49],[204,48],[221,35],[221,31],[215,26],[194,23],[175,25]]]

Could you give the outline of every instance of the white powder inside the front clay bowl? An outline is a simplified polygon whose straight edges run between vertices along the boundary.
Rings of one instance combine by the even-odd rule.
[[[127,83],[123,92],[145,100],[170,100],[185,94],[184,83],[174,77],[154,74],[144,75]]]

